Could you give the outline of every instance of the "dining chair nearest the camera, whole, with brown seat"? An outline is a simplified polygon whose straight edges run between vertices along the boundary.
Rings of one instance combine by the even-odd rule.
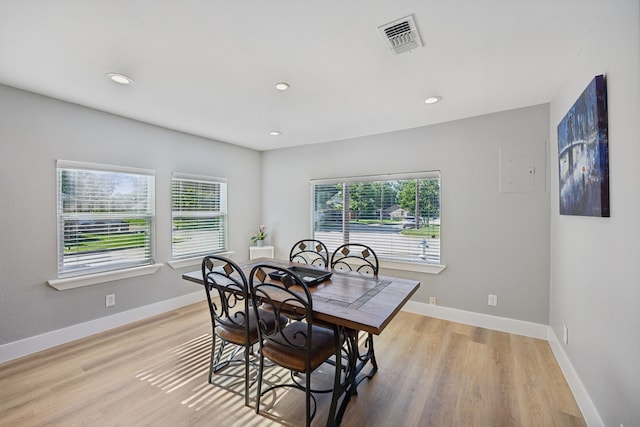
[[[279,274],[278,280],[270,278],[274,273]],[[264,306],[270,306],[269,311],[276,315],[286,315],[289,318],[289,324],[286,326],[269,329],[262,321],[264,312],[254,308],[260,336],[256,413],[260,412],[260,400],[266,393],[281,387],[292,387],[305,392],[306,425],[309,426],[317,409],[317,401],[313,394],[328,391],[332,392],[332,399],[327,425],[333,425],[338,398],[343,391],[343,385],[340,382],[342,370],[340,354],[343,339],[338,326],[315,324],[311,292],[300,276],[287,268],[268,264],[257,265],[251,270],[249,287],[254,307],[262,303]],[[331,328],[325,326],[331,326]],[[265,358],[275,365],[288,369],[291,382],[275,384],[263,391]],[[329,390],[312,390],[312,373],[332,358],[335,359],[333,387]],[[304,383],[301,379],[302,375],[304,375]],[[311,410],[311,401],[313,401],[313,410]]]

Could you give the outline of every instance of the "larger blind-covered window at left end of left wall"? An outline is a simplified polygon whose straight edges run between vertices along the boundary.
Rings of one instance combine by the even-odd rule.
[[[58,277],[153,263],[155,172],[57,162]]]

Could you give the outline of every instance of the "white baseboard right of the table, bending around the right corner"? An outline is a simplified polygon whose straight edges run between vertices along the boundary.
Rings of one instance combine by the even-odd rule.
[[[550,326],[414,301],[407,302],[403,307],[403,310],[421,314],[423,316],[430,316],[452,322],[464,323],[466,325],[478,326],[481,328],[508,332],[510,334],[524,335],[548,341],[551,346],[551,350],[553,351],[553,355],[555,356],[558,365],[560,365],[560,369],[562,369],[562,373],[569,384],[569,388],[576,399],[576,403],[580,407],[580,411],[582,412],[582,416],[584,417],[587,425],[589,427],[604,427],[602,418],[600,418],[600,414],[598,414],[596,407],[591,401],[589,393],[587,393],[587,389],[582,384],[582,381],[580,380],[580,377],[578,377],[575,369],[573,369],[571,361],[567,357],[567,354],[560,345],[558,337],[556,337],[556,334]]]

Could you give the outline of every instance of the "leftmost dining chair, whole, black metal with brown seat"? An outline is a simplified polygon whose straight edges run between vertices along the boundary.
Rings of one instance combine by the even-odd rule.
[[[213,384],[213,374],[230,363],[244,363],[245,405],[249,406],[249,355],[251,347],[258,342],[256,310],[267,330],[275,329],[276,324],[286,324],[288,319],[278,317],[273,312],[263,313],[260,308],[250,310],[247,278],[242,269],[228,258],[205,256],[202,259],[202,279],[211,313],[209,384]],[[220,341],[217,352],[216,341]],[[227,344],[235,348],[226,359],[221,360]],[[241,350],[244,351],[243,358],[236,359]]]

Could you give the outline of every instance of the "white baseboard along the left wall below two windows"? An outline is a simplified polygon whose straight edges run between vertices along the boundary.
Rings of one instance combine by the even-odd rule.
[[[157,314],[166,313],[167,311],[175,310],[204,299],[204,292],[194,292],[172,298],[170,300],[160,301],[154,304],[145,305],[144,307],[123,311],[110,316],[47,332],[42,335],[36,335],[23,340],[3,344],[0,345],[0,363],[17,359],[18,357],[26,356],[47,348],[55,347],[60,344],[65,344],[89,335],[97,334],[98,332],[113,329],[127,323],[142,320]]]

